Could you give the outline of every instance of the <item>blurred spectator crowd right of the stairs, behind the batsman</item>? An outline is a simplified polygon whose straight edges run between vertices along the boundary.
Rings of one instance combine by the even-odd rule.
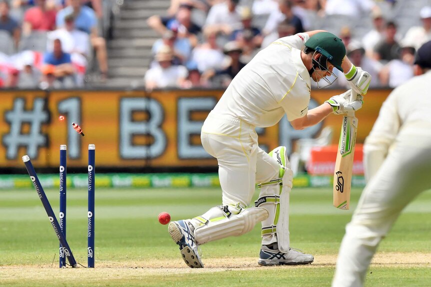
[[[397,18],[387,13],[397,2],[171,0],[165,15],[147,19],[160,38],[152,47],[145,87],[226,87],[259,50],[277,38],[330,27],[343,40],[353,64],[372,75],[371,88],[394,88],[413,76],[415,51],[431,40],[431,1],[420,1],[417,19],[403,33]],[[325,25],[316,26],[317,19]],[[331,21],[334,24],[328,25]],[[357,26],[348,25],[361,21],[370,22],[361,33],[356,33]],[[345,78],[337,76],[331,87],[348,87]]]

